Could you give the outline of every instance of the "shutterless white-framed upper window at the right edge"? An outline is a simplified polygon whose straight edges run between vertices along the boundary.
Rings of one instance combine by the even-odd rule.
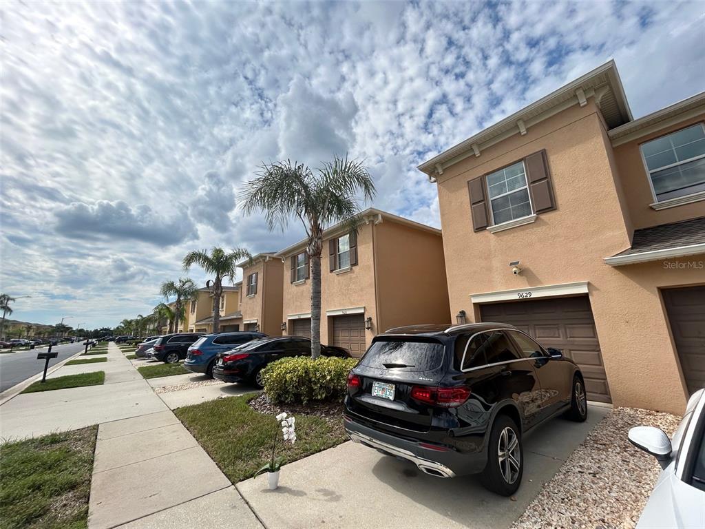
[[[656,202],[705,191],[702,123],[642,143],[641,150]]]

